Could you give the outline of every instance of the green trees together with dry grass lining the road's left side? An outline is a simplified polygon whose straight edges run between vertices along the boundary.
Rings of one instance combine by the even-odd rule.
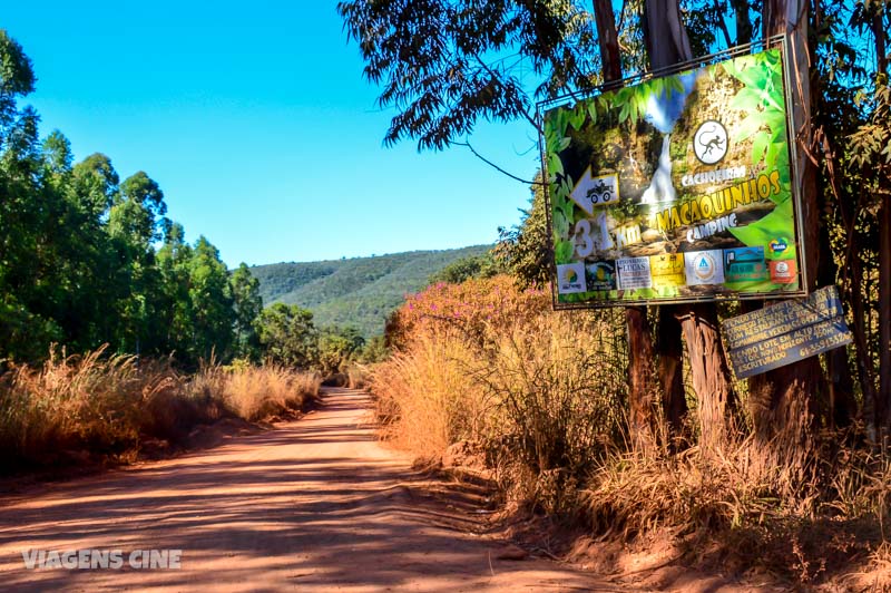
[[[129,460],[200,425],[301,409],[362,379],[381,339],[264,308],[245,264],[166,216],[146,173],[75,163],[25,104],[31,60],[0,29],[0,472]]]

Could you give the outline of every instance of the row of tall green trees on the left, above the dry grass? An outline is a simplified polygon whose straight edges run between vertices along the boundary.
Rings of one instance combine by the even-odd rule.
[[[146,173],[121,183],[108,156],[75,164],[60,132],[41,142],[37,113],[17,105],[33,82],[0,30],[0,360],[40,360],[52,342],[187,366],[244,353],[256,286],[242,274],[231,288],[206,239],[185,243]]]

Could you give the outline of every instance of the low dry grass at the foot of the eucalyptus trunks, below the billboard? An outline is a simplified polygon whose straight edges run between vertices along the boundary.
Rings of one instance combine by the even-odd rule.
[[[822,438],[824,450],[810,453],[804,475],[772,463],[742,430],[707,453],[615,450],[591,472],[581,514],[596,534],[629,541],[667,533],[693,557],[709,551],[713,560],[760,565],[800,584],[864,557],[882,564],[891,458],[845,436]]]

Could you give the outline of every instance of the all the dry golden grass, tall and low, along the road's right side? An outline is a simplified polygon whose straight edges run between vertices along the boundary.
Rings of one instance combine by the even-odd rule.
[[[874,551],[864,574],[885,577],[891,456],[862,434],[823,435],[794,468],[742,422],[708,451],[694,427],[670,450],[631,450],[620,314],[552,312],[499,279],[433,286],[391,325],[396,352],[372,391],[385,435],[415,455],[471,441],[509,498],[597,536],[674,534],[702,544],[694,555],[713,550],[799,583]]]

